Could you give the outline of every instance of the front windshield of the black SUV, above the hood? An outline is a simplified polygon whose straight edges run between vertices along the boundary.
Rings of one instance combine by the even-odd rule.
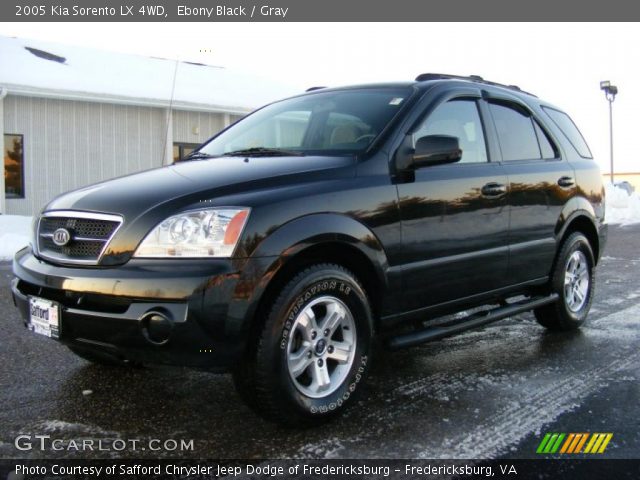
[[[364,151],[411,94],[408,88],[315,93],[268,105],[203,146],[220,155],[337,154]]]

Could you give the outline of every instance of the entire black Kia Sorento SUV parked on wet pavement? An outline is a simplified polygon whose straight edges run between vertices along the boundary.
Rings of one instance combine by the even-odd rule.
[[[603,217],[566,113],[424,74],[313,89],[187,161],[54,199],[13,296],[87,360],[231,371],[258,412],[309,424],[353,402],[374,337],[397,348],[525,310],[579,327]]]

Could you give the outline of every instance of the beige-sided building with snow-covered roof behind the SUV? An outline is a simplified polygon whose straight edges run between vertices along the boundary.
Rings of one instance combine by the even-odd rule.
[[[294,93],[221,67],[0,37],[0,213],[169,164]]]

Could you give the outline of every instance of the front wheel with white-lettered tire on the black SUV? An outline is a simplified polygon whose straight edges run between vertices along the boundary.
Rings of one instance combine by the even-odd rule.
[[[317,425],[354,402],[372,335],[369,301],[355,276],[339,265],[313,265],[280,291],[234,382],[264,418]]]

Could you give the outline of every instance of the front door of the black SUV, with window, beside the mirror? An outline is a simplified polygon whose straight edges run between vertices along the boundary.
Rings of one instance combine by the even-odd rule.
[[[494,290],[506,280],[507,177],[492,162],[480,93],[425,107],[412,141],[458,137],[458,163],[415,170],[398,184],[405,308],[415,310]],[[430,112],[430,113],[429,113]]]

